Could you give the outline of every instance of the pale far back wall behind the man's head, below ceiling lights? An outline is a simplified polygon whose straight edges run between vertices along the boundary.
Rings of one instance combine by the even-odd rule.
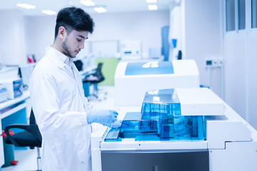
[[[95,31],[88,41],[141,40],[142,51],[161,47],[161,28],[169,25],[169,11],[92,14]],[[36,59],[43,57],[45,47],[53,43],[56,16],[25,17],[26,51]]]

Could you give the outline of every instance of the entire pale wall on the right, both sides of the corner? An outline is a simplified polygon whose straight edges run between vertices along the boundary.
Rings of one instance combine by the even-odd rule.
[[[199,67],[200,82],[205,84],[204,58],[224,58],[224,100],[257,129],[257,29],[251,30],[251,12],[246,1],[246,30],[226,33],[222,16],[224,0],[184,1],[185,53]],[[211,89],[221,95],[221,69],[211,71]]]

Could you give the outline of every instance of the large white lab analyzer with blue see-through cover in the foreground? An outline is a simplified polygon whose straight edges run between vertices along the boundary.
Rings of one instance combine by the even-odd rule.
[[[209,88],[150,90],[119,115],[120,128],[93,133],[93,171],[257,168],[256,130]]]

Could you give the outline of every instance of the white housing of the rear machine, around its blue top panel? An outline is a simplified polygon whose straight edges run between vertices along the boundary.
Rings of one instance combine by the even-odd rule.
[[[167,88],[199,88],[199,71],[194,60],[172,62],[172,74],[147,74],[126,76],[129,62],[120,62],[115,72],[115,105],[140,106],[149,90]],[[148,62],[155,66],[158,62]]]

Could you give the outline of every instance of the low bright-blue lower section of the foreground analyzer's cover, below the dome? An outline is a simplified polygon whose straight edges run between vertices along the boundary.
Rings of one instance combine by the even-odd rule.
[[[134,138],[135,141],[204,140],[203,129],[203,116],[168,118],[165,113],[160,113],[152,120],[123,120],[121,128],[111,129],[105,141],[122,141],[126,138]]]

